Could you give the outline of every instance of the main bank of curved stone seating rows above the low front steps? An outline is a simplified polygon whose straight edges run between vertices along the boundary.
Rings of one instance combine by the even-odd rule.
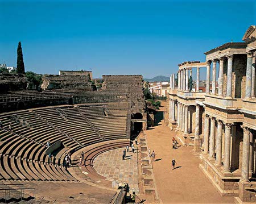
[[[123,109],[125,103],[119,106]],[[101,113],[98,118],[89,119],[101,132],[99,136],[77,108],[61,106],[61,109],[67,113],[67,119],[63,119],[55,107],[0,115],[5,127],[0,131],[0,165],[3,169],[0,172],[0,180],[77,181],[63,168],[64,156],[68,152],[100,141],[126,138],[127,115],[115,117]],[[92,110],[98,114],[97,109]],[[115,110],[114,104],[110,110]],[[24,119],[29,118],[33,126],[26,127],[11,120],[11,114],[18,114]],[[13,132],[7,128],[10,123]],[[52,163],[48,162],[48,156],[45,155],[46,142],[49,140],[51,143],[61,140],[65,145],[65,148],[54,155]]]

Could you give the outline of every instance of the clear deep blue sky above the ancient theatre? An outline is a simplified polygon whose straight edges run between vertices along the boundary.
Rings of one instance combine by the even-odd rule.
[[[57,74],[170,76],[183,61],[242,41],[256,24],[255,1],[2,1],[0,64]]]

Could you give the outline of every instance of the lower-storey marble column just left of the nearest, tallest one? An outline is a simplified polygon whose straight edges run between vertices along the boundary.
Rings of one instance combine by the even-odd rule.
[[[225,141],[224,141],[224,173],[230,173],[230,138],[231,138],[231,123],[225,124]]]

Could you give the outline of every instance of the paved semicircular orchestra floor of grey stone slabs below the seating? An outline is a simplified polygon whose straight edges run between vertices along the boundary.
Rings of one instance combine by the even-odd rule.
[[[130,190],[138,193],[137,153],[133,153],[129,148],[129,152],[126,152],[125,160],[122,160],[124,149],[112,149],[101,153],[94,159],[93,168],[102,176],[110,178],[110,180],[128,183]]]

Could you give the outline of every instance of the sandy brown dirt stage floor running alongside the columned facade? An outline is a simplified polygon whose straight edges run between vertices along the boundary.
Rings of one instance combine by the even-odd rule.
[[[162,102],[165,106],[165,102]],[[165,107],[161,107],[164,110]],[[145,131],[148,147],[156,153],[154,174],[160,199],[163,203],[234,203],[233,197],[221,197],[199,168],[200,159],[193,147],[172,149],[174,131],[165,126],[163,120],[158,126]],[[180,144],[178,144],[179,146]],[[179,168],[172,170],[171,160]]]

